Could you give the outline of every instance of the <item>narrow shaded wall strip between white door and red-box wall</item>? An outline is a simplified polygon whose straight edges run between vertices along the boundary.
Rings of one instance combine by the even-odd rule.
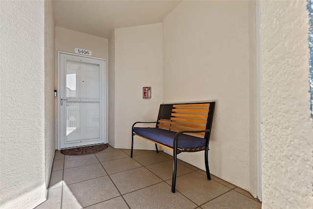
[[[115,32],[109,37],[109,139],[108,143],[115,146]]]

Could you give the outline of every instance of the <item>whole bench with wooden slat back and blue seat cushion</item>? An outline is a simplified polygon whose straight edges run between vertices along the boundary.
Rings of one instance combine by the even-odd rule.
[[[181,152],[204,150],[206,176],[211,180],[208,150],[215,102],[161,104],[156,122],[135,122],[132,126],[133,158],[134,136],[147,139],[173,150],[172,192],[175,193],[177,155]],[[135,127],[136,124],[156,123],[155,127]]]

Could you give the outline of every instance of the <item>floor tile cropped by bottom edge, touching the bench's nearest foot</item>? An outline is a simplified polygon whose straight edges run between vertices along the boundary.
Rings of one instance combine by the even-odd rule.
[[[172,193],[162,182],[124,195],[131,209],[194,209],[197,206],[181,195]]]

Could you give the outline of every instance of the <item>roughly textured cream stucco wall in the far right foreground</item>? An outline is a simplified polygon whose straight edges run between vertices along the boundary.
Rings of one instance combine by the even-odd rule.
[[[313,208],[307,1],[261,1],[262,208]]]

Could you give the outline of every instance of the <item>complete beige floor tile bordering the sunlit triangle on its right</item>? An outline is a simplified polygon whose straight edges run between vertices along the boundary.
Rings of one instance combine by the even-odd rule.
[[[83,207],[119,196],[117,189],[108,176],[79,182],[68,187]]]

